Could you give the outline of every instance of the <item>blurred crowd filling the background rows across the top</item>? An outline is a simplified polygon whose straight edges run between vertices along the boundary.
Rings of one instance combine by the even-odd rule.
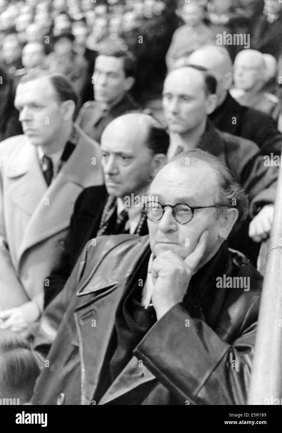
[[[249,34],[250,48],[269,55],[270,87],[265,90],[279,96],[275,78],[282,52],[280,6],[278,0],[3,0],[0,58],[5,102],[0,108],[0,138],[20,132],[13,122],[9,129],[7,116],[17,116],[13,92],[23,74],[33,68],[62,72],[74,84],[82,105],[94,99],[92,74],[98,52],[112,48],[134,53],[138,73],[131,94],[139,105],[154,109],[160,105],[167,68],[177,58],[201,45],[216,44],[218,33]],[[244,49],[226,48],[232,60]]]

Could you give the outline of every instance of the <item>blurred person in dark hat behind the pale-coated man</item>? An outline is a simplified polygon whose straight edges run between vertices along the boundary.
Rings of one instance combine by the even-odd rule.
[[[54,51],[45,58],[43,68],[48,69],[51,73],[59,72],[66,75],[81,101],[88,66],[85,58],[74,52],[74,40],[75,36],[72,33],[61,33],[55,36],[53,40]]]

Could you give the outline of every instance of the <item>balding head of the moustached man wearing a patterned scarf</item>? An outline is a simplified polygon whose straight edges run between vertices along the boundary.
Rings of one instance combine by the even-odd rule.
[[[147,187],[164,165],[168,146],[167,132],[147,114],[129,113],[109,123],[101,137],[108,193],[122,198]]]

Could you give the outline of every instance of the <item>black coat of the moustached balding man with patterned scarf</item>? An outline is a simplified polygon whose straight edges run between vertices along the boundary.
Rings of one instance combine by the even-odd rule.
[[[107,189],[105,185],[85,188],[79,194],[74,205],[65,250],[56,268],[47,277],[49,287],[45,287],[44,308],[66,284],[86,243],[96,237],[106,201]],[[144,220],[140,236],[147,234],[147,220]]]

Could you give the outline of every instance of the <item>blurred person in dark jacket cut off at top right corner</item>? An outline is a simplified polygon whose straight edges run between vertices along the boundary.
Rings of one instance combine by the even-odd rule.
[[[252,23],[251,48],[278,59],[282,54],[282,3],[279,0],[264,3],[263,14]]]

